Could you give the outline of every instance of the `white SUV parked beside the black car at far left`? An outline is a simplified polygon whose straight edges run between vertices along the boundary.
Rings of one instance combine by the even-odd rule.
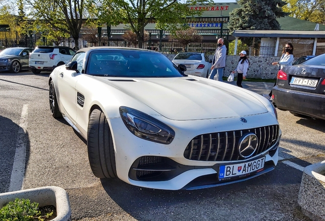
[[[29,54],[29,68],[34,74],[51,72],[57,66],[68,63],[76,53],[64,46],[38,46]]]

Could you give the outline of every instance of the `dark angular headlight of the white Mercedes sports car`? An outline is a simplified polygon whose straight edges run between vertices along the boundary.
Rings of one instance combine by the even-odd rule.
[[[141,111],[121,106],[120,115],[125,126],[139,138],[170,144],[175,137],[175,131],[172,128]]]

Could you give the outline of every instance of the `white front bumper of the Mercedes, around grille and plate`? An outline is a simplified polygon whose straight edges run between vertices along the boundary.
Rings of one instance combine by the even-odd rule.
[[[240,123],[239,118],[171,121],[168,125],[175,130],[175,138],[169,145],[140,139],[131,134],[122,119],[109,119],[114,140],[118,177],[135,186],[178,190],[199,189],[240,182],[273,170],[278,160],[277,147],[281,137],[281,130],[278,131],[279,139],[272,148],[268,148],[257,156],[246,160],[199,161],[189,160],[184,157],[187,145],[198,135],[230,131],[234,129],[234,125],[236,125],[236,130],[278,125],[277,120],[269,113],[258,116],[245,116],[245,118],[247,119],[246,124]],[[257,125],[257,122],[263,122],[263,125]],[[218,179],[220,165],[248,162],[263,156],[265,157],[263,170],[249,173],[241,178]],[[145,161],[144,159],[148,159],[148,161],[139,163]],[[155,162],[155,160],[157,161]]]

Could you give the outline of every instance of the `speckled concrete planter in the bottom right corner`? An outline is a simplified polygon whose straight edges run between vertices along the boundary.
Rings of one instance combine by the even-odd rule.
[[[301,179],[298,204],[313,221],[325,221],[325,161],[307,166]]]

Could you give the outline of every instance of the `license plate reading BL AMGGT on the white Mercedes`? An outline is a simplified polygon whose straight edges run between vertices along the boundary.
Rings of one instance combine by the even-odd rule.
[[[239,164],[222,165],[219,168],[219,180],[234,176],[245,176],[251,172],[264,168],[265,157]]]

